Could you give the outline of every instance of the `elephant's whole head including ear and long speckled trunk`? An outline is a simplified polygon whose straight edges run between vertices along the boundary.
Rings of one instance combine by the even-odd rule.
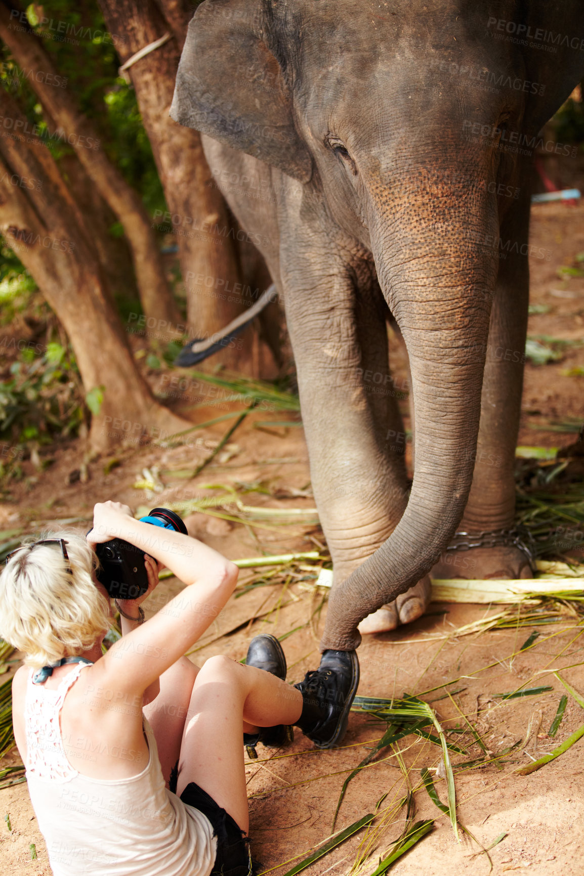
[[[499,257],[525,244],[501,230],[529,209],[523,152],[584,72],[579,4],[552,5],[206,0],[189,25],[172,117],[297,180],[307,215],[324,205],[408,348],[415,475],[346,582],[367,611],[431,569],[466,505]]]

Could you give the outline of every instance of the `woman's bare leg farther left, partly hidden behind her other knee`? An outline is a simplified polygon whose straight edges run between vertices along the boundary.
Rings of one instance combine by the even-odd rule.
[[[181,657],[160,675],[160,694],[144,706],[143,712],[153,729],[162,775],[167,783],[181,753],[182,734],[189,711],[198,666]]]

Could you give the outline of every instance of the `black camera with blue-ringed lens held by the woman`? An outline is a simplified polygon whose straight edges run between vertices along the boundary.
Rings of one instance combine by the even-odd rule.
[[[168,508],[153,508],[144,523],[173,529],[175,533],[187,535],[187,527],[182,519]],[[111,539],[96,545],[96,555],[100,562],[97,580],[103,584],[110,597],[116,599],[138,599],[148,590],[148,573],[144,555],[147,551],[136,548],[129,541]]]

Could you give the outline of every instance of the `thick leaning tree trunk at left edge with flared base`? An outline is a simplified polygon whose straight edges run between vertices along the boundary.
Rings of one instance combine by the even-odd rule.
[[[0,88],[0,111],[25,117]],[[50,152],[23,135],[0,138],[0,230],[37,281],[75,351],[85,392],[104,388],[90,441],[98,451],[172,434],[188,427],[153,399],[112,307],[110,291],[82,215]],[[16,176],[15,176],[16,174]],[[21,187],[18,180],[42,180]]]

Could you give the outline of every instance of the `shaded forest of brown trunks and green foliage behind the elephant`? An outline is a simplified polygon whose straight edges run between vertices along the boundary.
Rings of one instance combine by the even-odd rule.
[[[175,357],[270,283],[199,135],[168,117],[196,5],[0,2],[0,474],[60,436],[100,452],[189,427],[165,391]],[[576,89],[547,126],[578,166],[582,106]],[[279,306],[203,367],[285,385]]]

